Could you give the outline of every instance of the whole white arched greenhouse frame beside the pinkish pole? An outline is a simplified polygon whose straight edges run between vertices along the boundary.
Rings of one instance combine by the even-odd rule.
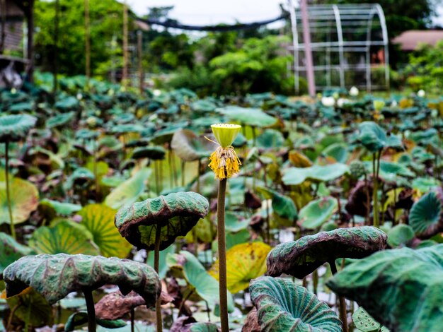
[[[291,15],[294,52],[295,90],[308,68],[304,57],[301,11],[287,0]],[[316,90],[357,86],[367,91],[389,88],[389,39],[383,9],[379,4],[308,6],[308,22],[313,54]],[[384,82],[372,83],[374,52],[383,57],[377,67],[384,71]],[[351,59],[357,59],[352,63]],[[362,73],[362,75],[359,75]],[[383,76],[383,75],[382,75]],[[360,81],[349,78],[359,78]],[[321,78],[321,79],[318,79]],[[380,78],[379,78],[379,81]]]

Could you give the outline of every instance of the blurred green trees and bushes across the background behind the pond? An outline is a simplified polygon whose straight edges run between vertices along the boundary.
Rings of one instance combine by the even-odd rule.
[[[357,0],[313,0],[311,4],[359,3]],[[381,4],[390,39],[405,30],[432,26],[441,0],[367,0]],[[36,64],[51,71],[54,50],[54,1],[36,1]],[[122,70],[122,4],[115,0],[90,0],[91,65],[96,78],[118,79]],[[146,17],[171,20],[173,7],[148,8]],[[60,0],[59,72],[84,74],[84,0]],[[294,78],[288,66],[292,56],[282,45],[291,42],[289,22],[279,29],[259,28],[238,32],[183,33],[180,30],[141,28],[130,14],[130,45],[143,33],[145,73],[154,88],[190,88],[199,95],[241,95],[272,91],[293,94]],[[133,47],[134,48],[134,47]],[[390,45],[393,88],[440,89],[443,75],[442,44],[412,53]],[[137,54],[130,52],[137,68]],[[374,69],[373,76],[377,76]],[[382,75],[380,74],[380,77]],[[301,80],[301,92],[306,83]]]

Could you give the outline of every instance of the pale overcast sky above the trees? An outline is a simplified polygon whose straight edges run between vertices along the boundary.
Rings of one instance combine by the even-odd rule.
[[[127,4],[139,15],[146,14],[148,7],[174,6],[171,18],[190,25],[266,20],[280,14],[280,3],[286,4],[287,0],[127,0]],[[442,25],[443,8],[439,8],[438,12],[435,22]]]

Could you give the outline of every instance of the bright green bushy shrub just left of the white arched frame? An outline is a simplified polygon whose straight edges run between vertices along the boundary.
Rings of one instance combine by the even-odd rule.
[[[193,88],[199,94],[292,93],[294,79],[287,77],[291,58],[280,54],[282,42],[281,37],[275,36],[245,40],[238,49],[209,59],[207,69],[197,66],[179,72],[170,84],[175,88]],[[212,49],[207,53],[219,52]]]

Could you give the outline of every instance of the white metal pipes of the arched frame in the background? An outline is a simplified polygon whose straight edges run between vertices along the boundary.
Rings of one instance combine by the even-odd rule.
[[[295,78],[294,88],[298,94],[300,73],[306,71],[306,66],[300,64],[300,61],[302,61],[301,57],[304,56],[304,54],[301,55],[301,52],[304,52],[306,47],[303,43],[299,43],[299,32],[302,31],[299,20],[301,18],[299,8],[296,8],[292,0],[287,0],[287,6],[291,15],[292,25],[292,45],[288,49],[294,52],[294,66],[292,70],[294,70]],[[347,85],[345,82],[345,71],[364,71],[366,79],[364,88],[368,91],[374,88],[381,88],[381,85],[372,84],[372,64],[370,59],[372,47],[380,47],[384,49],[384,88],[389,88],[388,30],[384,11],[379,4],[309,6],[308,13],[311,35],[324,34],[327,38],[325,42],[311,42],[310,47],[312,52],[323,52],[325,54],[326,66],[314,65],[313,70],[315,72],[324,71],[328,85],[330,85],[331,71],[338,71],[340,87],[342,88],[345,88],[345,85]],[[378,20],[374,20],[374,18],[378,18]],[[362,29],[358,29],[359,27]],[[372,32],[374,30],[379,30],[381,37],[379,33],[373,35]],[[335,33],[337,35],[336,40],[335,36],[333,36]],[[345,39],[345,33],[347,40]],[[355,36],[360,34],[366,35],[366,40],[357,40]],[[331,63],[330,54],[333,52],[338,53],[338,64]],[[346,54],[357,53],[364,53],[364,63],[347,64],[345,60]],[[357,86],[357,84],[352,85]],[[318,88],[322,87],[317,86]]]

